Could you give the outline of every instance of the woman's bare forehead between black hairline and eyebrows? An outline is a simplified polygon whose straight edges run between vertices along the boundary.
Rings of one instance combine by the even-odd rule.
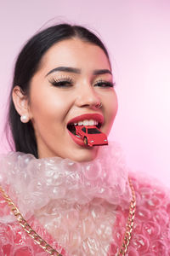
[[[45,69],[57,66],[71,66],[82,69],[111,69],[103,49],[95,44],[71,38],[54,44],[43,55],[41,67]]]

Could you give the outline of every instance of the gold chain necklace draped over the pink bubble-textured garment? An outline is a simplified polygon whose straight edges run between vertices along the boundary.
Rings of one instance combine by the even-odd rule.
[[[134,220],[135,209],[136,209],[136,197],[135,197],[135,192],[133,188],[133,183],[130,177],[128,178],[128,181],[132,191],[132,200],[130,202],[126,231],[122,241],[122,247],[120,248],[117,256],[121,256],[121,255],[124,256],[125,253],[127,252],[127,247],[131,240],[131,236],[132,236],[131,234],[133,231],[133,220]],[[3,195],[3,198],[5,199],[5,201],[7,201],[8,206],[10,207],[11,211],[14,213],[14,216],[17,218],[19,224],[28,233],[28,235],[31,236],[31,238],[34,241],[36,241],[37,244],[40,247],[42,247],[42,249],[45,252],[49,253],[49,255],[63,256],[62,254],[58,253],[53,247],[51,247],[46,241],[44,241],[41,236],[38,236],[36,231],[31,229],[31,226],[26,222],[26,219],[23,218],[19,209],[14,205],[14,202],[9,198],[9,196],[5,193],[4,189],[1,186],[0,186],[0,193]]]

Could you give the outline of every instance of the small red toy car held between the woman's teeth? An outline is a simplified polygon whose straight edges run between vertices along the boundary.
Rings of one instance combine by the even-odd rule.
[[[105,133],[99,131],[95,125],[77,125],[76,134],[80,136],[85,145],[89,147],[108,145]]]

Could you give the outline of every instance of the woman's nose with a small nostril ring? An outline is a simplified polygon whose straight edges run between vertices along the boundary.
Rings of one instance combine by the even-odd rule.
[[[91,84],[83,84],[77,91],[77,107],[87,107],[87,108],[99,108],[101,99],[94,86]]]

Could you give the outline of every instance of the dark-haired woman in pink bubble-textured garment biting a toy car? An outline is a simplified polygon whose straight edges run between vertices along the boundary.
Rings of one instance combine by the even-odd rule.
[[[1,160],[1,255],[170,255],[167,194],[128,178],[117,143],[91,147],[77,133],[109,134],[114,85],[104,44],[82,26],[51,26],[21,50],[8,114],[16,152]]]

